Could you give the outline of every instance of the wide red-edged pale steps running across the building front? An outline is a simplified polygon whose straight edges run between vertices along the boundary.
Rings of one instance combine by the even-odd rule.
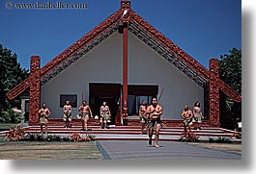
[[[65,129],[63,126],[48,126],[48,134],[55,134],[61,136],[71,136],[73,133],[79,133],[81,136],[87,134],[93,135],[97,140],[136,140],[136,139],[148,139],[146,129],[144,129],[143,135],[141,135],[140,126],[108,126],[107,129],[100,129],[100,126],[88,126],[89,131],[80,131],[81,126],[72,126],[71,129]],[[30,134],[40,134],[40,126],[28,126],[24,127],[24,130]],[[44,129],[43,129],[44,131]],[[191,130],[199,140],[209,140],[210,137],[229,137],[233,138],[236,132],[221,129],[221,128],[209,128],[205,127],[202,130]],[[7,131],[6,131],[7,132]],[[6,132],[1,132],[0,135],[5,135]],[[161,140],[178,140],[181,134],[184,132],[183,127],[164,127],[160,130]],[[240,139],[241,141],[241,139]]]

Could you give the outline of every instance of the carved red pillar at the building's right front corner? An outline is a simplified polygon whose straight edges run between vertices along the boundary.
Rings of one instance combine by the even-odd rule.
[[[219,127],[219,64],[217,59],[210,60],[209,74],[209,120],[210,127]]]

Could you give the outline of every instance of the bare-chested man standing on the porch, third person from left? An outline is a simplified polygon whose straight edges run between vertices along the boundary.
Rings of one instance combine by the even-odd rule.
[[[78,111],[81,112],[77,115],[77,118],[82,120],[81,131],[87,131],[87,121],[89,120],[89,116],[93,117],[93,113],[85,100],[83,100],[82,105],[79,107]]]

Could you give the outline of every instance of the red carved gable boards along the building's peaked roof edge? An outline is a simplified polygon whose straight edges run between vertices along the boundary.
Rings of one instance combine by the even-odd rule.
[[[114,12],[112,15],[107,17],[104,21],[102,21],[96,28],[94,28],[91,32],[86,34],[84,37],[81,37],[79,40],[74,42],[69,48],[67,48],[64,52],[59,54],[50,62],[46,63],[41,69],[40,74],[41,78],[45,77],[51,71],[56,69],[62,62],[67,61],[72,56],[77,54],[82,48],[88,45],[92,40],[100,37],[106,30],[111,28],[114,25],[118,25],[118,22],[122,21],[130,21],[141,28],[145,33],[149,36],[153,37],[157,42],[161,44],[166,50],[175,55],[182,62],[185,62],[186,66],[191,68],[193,71],[199,74],[203,79],[209,81],[210,71],[204,67],[202,64],[194,60],[188,54],[185,53],[183,49],[173,43],[169,38],[164,37],[160,32],[158,32],[152,25],[150,25],[146,20],[144,20],[141,16],[139,16],[136,12],[133,12],[130,9],[129,1],[122,1],[121,9],[117,12]],[[128,10],[128,12],[125,12]],[[125,14],[125,15],[124,15]],[[29,87],[31,77],[28,77],[19,85],[11,89],[7,94],[7,98],[13,100],[16,96],[22,93],[25,89]],[[231,97],[236,102],[242,101],[242,96],[240,93],[235,91],[233,88],[227,86],[223,81],[219,80],[219,89],[221,89],[226,95]]]

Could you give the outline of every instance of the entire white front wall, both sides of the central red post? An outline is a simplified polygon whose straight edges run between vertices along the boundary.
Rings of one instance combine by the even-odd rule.
[[[42,87],[42,102],[51,110],[51,117],[62,118],[60,94],[78,94],[78,105],[82,93],[89,100],[89,83],[122,84],[123,36],[114,33],[74,62],[58,76]],[[180,119],[185,105],[192,108],[196,100],[203,108],[204,89],[187,78],[174,65],[166,62],[145,43],[128,33],[128,84],[158,85],[163,106],[163,119]],[[77,108],[73,114],[77,113]]]

